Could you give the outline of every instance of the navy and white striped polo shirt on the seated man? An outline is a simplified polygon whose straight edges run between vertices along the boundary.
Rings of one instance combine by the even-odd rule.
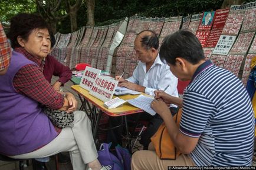
[[[199,137],[191,157],[198,166],[250,166],[254,112],[244,85],[206,61],[185,90],[180,132]]]

